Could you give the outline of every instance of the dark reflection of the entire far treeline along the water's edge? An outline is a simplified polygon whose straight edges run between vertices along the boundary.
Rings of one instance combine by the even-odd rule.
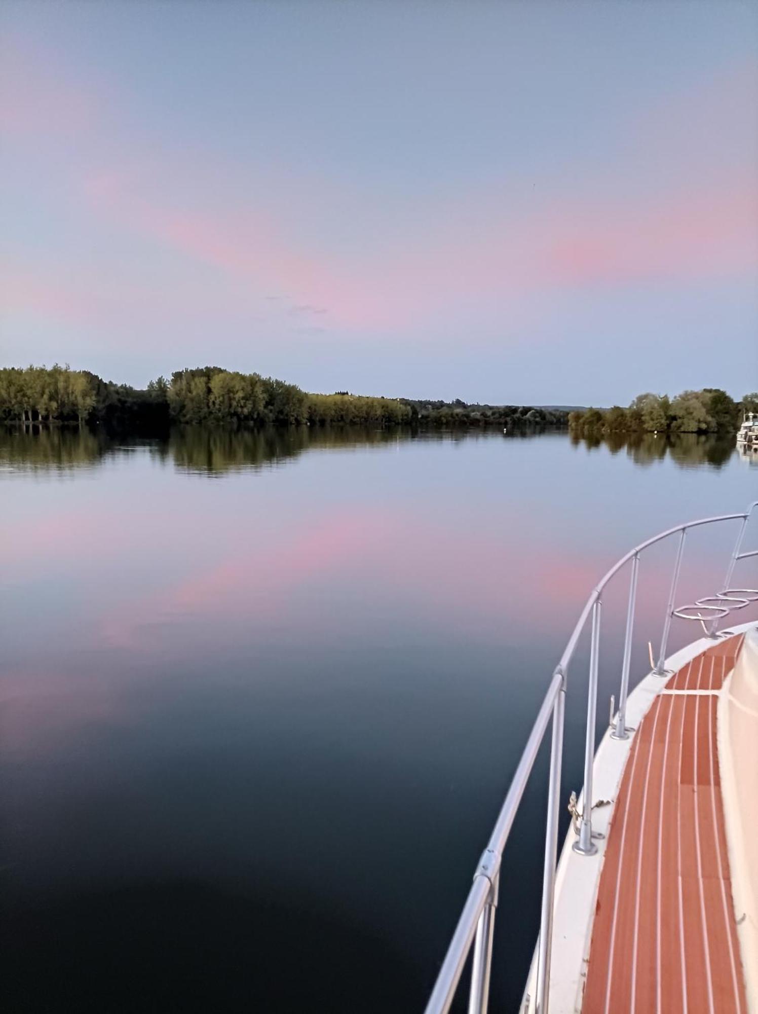
[[[535,431],[509,434],[532,438]],[[491,440],[495,434],[479,431],[439,430],[412,433],[401,429],[356,429],[328,427],[270,427],[259,430],[225,430],[212,427],[177,427],[162,439],[115,440],[98,430],[67,427],[33,427],[25,430],[0,427],[0,468],[66,472],[93,466],[104,457],[134,452],[145,447],[156,459],[182,470],[220,476],[228,472],[273,467],[307,450],[381,446],[405,440]],[[547,437],[545,437],[546,439]],[[550,434],[550,439],[562,439]],[[626,451],[635,464],[645,466],[667,456],[681,467],[709,464],[723,466],[735,450],[734,437],[685,433],[655,436],[652,433],[610,433],[606,436],[571,437],[575,446],[589,449],[603,445],[611,454]]]

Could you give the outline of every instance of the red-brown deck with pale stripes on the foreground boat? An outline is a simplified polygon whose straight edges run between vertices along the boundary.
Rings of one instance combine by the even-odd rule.
[[[716,756],[742,637],[671,676],[634,733],[608,834],[583,1014],[746,1014]]]

